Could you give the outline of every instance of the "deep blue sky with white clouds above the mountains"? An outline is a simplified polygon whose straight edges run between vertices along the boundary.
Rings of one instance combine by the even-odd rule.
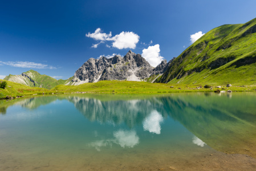
[[[1,1],[0,78],[32,69],[67,79],[89,58],[129,50],[153,66],[180,55],[190,35],[250,21],[255,7],[254,0]]]

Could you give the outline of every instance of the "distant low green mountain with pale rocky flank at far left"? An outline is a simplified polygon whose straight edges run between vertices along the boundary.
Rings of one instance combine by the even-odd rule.
[[[42,87],[51,89],[59,84],[66,84],[72,78],[68,80],[56,80],[47,75],[41,75],[34,70],[23,72],[21,75],[8,75],[4,80],[9,80],[11,82],[20,83],[25,86],[30,87]]]

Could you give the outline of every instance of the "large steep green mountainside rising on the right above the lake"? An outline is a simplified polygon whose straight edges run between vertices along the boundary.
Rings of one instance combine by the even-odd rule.
[[[256,84],[256,18],[207,32],[174,59],[156,82]]]

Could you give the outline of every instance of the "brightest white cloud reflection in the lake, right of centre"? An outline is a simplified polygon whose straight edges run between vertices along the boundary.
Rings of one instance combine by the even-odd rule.
[[[153,132],[156,134],[161,133],[161,125],[160,123],[164,119],[162,115],[156,110],[152,111],[148,117],[146,117],[143,121],[143,129],[149,132]]]

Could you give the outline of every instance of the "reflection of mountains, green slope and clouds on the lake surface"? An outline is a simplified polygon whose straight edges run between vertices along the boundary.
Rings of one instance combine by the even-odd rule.
[[[127,125],[128,129],[113,131],[108,139],[89,144],[97,150],[112,145],[133,148],[140,143],[133,128],[160,135],[161,124],[169,117],[193,133],[193,144],[256,157],[256,93],[174,93],[123,99],[127,99],[125,95],[59,95],[23,99],[15,105],[35,109],[56,100],[68,100],[92,122]],[[7,107],[0,107],[2,113],[6,113]]]

